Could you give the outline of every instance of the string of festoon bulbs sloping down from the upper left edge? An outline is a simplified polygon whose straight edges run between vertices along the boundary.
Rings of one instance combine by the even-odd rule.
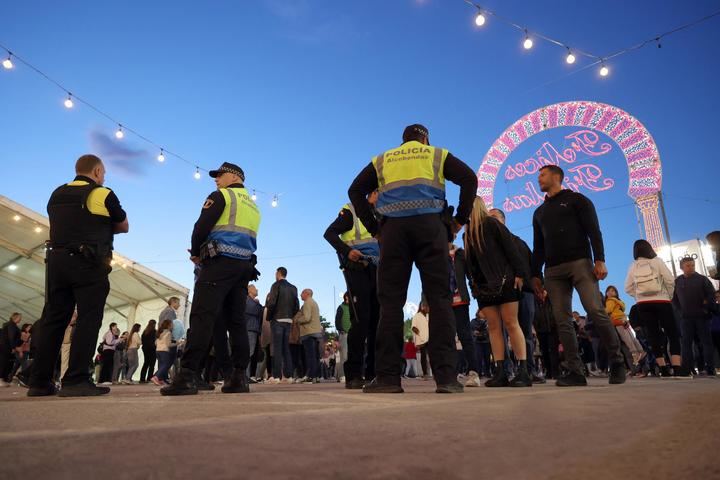
[[[113,124],[117,125],[117,130],[115,130],[115,138],[116,139],[122,140],[123,138],[125,138],[126,133],[131,133],[132,135],[139,138],[143,142],[145,142],[149,145],[152,145],[158,151],[158,156],[157,156],[158,162],[164,163],[165,160],[167,159],[167,157],[174,157],[174,158],[190,165],[191,167],[195,167],[195,173],[193,173],[193,177],[196,180],[200,180],[202,178],[202,175],[200,173],[201,171],[203,171],[203,172],[209,171],[209,169],[200,167],[200,165],[198,163],[185,158],[184,156],[180,155],[179,153],[176,153],[172,150],[168,150],[167,147],[164,147],[164,146],[154,142],[153,140],[151,140],[147,136],[143,135],[142,133],[138,132],[137,130],[128,127],[127,124],[118,120],[113,115],[110,115],[109,113],[100,109],[99,107],[97,107],[90,101],[86,100],[85,98],[78,96],[76,93],[73,93],[69,88],[65,87],[59,81],[55,80],[50,75],[48,75],[44,71],[40,70],[38,67],[36,67],[32,63],[25,60],[23,57],[19,56],[17,53],[13,52],[12,50],[10,50],[10,48],[6,47],[5,45],[0,44],[0,49],[5,50],[5,52],[7,54],[7,57],[2,61],[2,66],[5,70],[12,70],[15,68],[15,63],[13,62],[13,60],[25,65],[30,70],[32,70],[36,74],[40,75],[45,80],[47,80],[48,82],[52,83],[53,85],[58,87],[60,90],[65,92],[66,98],[63,102],[63,105],[65,106],[65,108],[71,109],[71,108],[75,107],[76,103],[82,104],[82,105],[85,105],[86,107],[90,108],[92,111],[94,111],[98,115],[106,118]],[[272,202],[270,203],[270,205],[272,205],[273,207],[277,207],[279,205],[279,199],[280,199],[280,195],[281,195],[280,193],[269,193],[269,192],[265,192],[263,190],[259,190],[256,188],[249,189],[249,190],[252,191],[253,201],[257,201],[258,194],[260,194],[260,195],[264,195],[267,197],[272,197]]]

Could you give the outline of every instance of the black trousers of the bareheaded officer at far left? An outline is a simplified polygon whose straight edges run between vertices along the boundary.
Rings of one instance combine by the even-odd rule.
[[[111,268],[66,250],[49,250],[47,255],[47,302],[33,329],[35,361],[30,385],[44,387],[52,380],[65,329],[76,306],[77,324],[62,383],[88,382],[105,300],[110,292]]]

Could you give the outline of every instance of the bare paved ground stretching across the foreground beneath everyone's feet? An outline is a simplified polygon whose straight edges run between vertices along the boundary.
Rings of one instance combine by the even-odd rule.
[[[720,380],[630,380],[438,395],[339,384],[249,395],[0,391],[2,478],[720,478]]]

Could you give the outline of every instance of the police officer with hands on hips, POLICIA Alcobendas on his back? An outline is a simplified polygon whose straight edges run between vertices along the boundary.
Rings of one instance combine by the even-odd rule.
[[[454,218],[443,221],[445,180],[460,186]],[[379,191],[378,222],[366,196]],[[447,150],[429,144],[428,130],[410,125],[403,144],[374,157],[348,190],[368,231],[379,237],[380,321],[375,343],[376,377],[366,393],[402,393],[403,306],[412,265],[418,267],[430,307],[428,350],[438,393],[462,392],[456,378],[455,319],[450,294],[448,230],[468,221],[477,191],[475,173]]]

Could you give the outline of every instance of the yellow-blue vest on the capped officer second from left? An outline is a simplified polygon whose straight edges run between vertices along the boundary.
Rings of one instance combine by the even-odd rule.
[[[225,209],[210,232],[218,252],[233,258],[249,260],[257,250],[260,210],[245,188],[221,188]]]

